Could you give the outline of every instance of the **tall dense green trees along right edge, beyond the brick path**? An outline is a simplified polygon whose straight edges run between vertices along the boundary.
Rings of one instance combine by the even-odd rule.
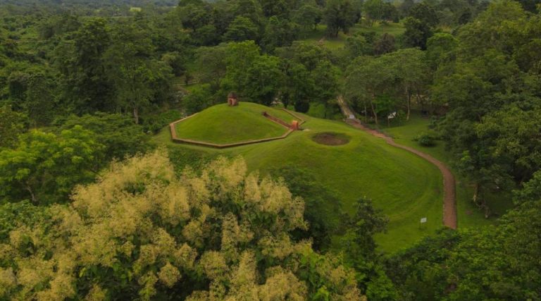
[[[440,128],[459,171],[475,185],[473,202],[486,216],[491,214],[487,192],[512,189],[539,166],[530,144],[537,140],[526,130],[538,128],[533,116],[539,94],[527,83],[528,73],[537,74],[537,69],[518,59],[533,42],[526,28],[538,22],[526,18],[518,3],[498,2],[461,28],[458,45],[447,37],[440,44],[450,49],[435,48],[444,60],[431,92],[437,106],[450,109]],[[502,23],[505,28],[494,35]]]

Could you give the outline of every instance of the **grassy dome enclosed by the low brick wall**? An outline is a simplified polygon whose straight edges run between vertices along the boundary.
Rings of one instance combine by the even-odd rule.
[[[285,113],[249,102],[241,102],[238,106],[219,104],[178,123],[177,136],[182,139],[227,144],[284,135],[287,129],[265,118],[263,111],[268,111],[270,115],[280,113],[280,116]]]

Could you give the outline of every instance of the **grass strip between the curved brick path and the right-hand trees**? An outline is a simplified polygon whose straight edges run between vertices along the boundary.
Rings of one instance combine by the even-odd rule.
[[[413,114],[410,121],[404,121],[402,125],[384,128],[384,130],[385,133],[392,135],[397,143],[407,145],[409,147],[419,149],[421,152],[430,154],[436,159],[445,162],[447,166],[453,169],[449,164],[452,159],[451,155],[449,152],[445,151],[444,143],[442,141],[438,141],[435,147],[422,147],[421,145],[418,145],[417,142],[413,141],[417,135],[428,130],[429,123],[430,120],[428,118],[422,118],[418,114]],[[464,178],[461,178],[456,172],[454,172],[454,174],[456,176],[456,203],[459,227],[478,227],[493,223],[495,218],[485,219],[483,213],[479,211],[471,202],[473,189],[467,185]],[[491,195],[490,199],[490,207],[497,215],[504,214],[504,212],[511,207],[511,202],[509,202],[511,197],[509,193]]]

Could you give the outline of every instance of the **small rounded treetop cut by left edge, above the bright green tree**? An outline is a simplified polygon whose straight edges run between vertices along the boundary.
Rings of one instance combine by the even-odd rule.
[[[0,106],[0,149],[1,147],[14,147],[18,136],[26,128],[27,116],[15,112],[10,106]]]

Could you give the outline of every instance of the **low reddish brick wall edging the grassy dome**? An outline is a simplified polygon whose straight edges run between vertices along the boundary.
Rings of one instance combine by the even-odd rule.
[[[194,113],[191,116],[187,116],[186,118],[182,118],[179,121],[175,121],[175,122],[169,124],[169,129],[170,129],[170,132],[171,132],[171,140],[173,140],[173,142],[175,142],[175,143],[185,143],[185,144],[189,144],[189,145],[199,145],[199,146],[202,146],[202,147],[215,147],[215,148],[218,148],[218,149],[225,149],[225,148],[228,148],[228,147],[239,147],[241,145],[251,145],[251,144],[254,144],[254,143],[261,143],[261,142],[268,142],[268,141],[273,141],[273,140],[285,139],[287,136],[289,136],[295,130],[300,130],[299,126],[301,124],[303,124],[305,121],[302,118],[300,118],[300,116],[293,113],[292,111],[289,111],[287,109],[279,109],[279,110],[285,111],[286,113],[289,113],[294,118],[297,118],[297,119],[300,120],[300,121],[293,121],[292,122],[293,124],[290,125],[290,124],[285,123],[284,121],[282,121],[282,120],[280,120],[278,118],[270,116],[266,112],[263,112],[263,116],[268,118],[270,121],[278,123],[278,124],[284,126],[285,128],[287,128],[287,132],[284,135],[281,135],[279,137],[248,140],[248,141],[235,142],[235,143],[229,143],[229,144],[223,144],[223,145],[220,145],[220,144],[217,144],[217,143],[211,143],[211,142],[198,141],[198,140],[183,139],[183,138],[178,137],[177,136],[176,125],[178,123],[181,123],[182,121],[185,121],[185,120],[187,120],[189,118],[192,118],[192,117],[196,116],[197,113]],[[294,128],[294,124],[297,124],[297,129]]]

